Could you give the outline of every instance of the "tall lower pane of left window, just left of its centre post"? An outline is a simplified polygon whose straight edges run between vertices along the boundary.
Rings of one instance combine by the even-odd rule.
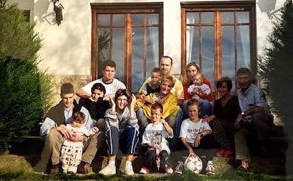
[[[116,27],[113,28],[113,47],[112,47],[112,59],[116,63],[116,74],[115,77],[118,80],[121,80],[124,82],[124,75],[125,75],[125,61],[124,61],[124,56],[125,56],[125,38],[124,35],[125,29],[123,27]]]

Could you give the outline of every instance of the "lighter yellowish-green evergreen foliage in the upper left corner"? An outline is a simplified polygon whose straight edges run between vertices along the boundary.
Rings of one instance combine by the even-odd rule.
[[[23,17],[23,11],[16,4],[0,3],[0,51],[21,60],[35,60],[34,56],[40,50],[41,39],[35,33],[34,23],[28,23]]]

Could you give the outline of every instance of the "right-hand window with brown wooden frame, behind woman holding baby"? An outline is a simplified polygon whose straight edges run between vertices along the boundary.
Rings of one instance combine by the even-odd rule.
[[[256,70],[255,2],[225,1],[181,4],[182,64],[200,64],[212,82],[223,76],[234,80],[241,67]],[[234,87],[234,90],[236,87]]]

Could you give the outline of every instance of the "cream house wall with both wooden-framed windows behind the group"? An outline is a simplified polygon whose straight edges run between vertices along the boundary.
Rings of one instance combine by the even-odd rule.
[[[268,46],[272,20],[285,0],[10,0],[18,3],[42,37],[40,68],[79,89],[101,76],[113,60],[116,77],[137,92],[161,56],[173,58],[172,73],[195,61],[212,82],[234,80]],[[217,96],[217,92],[215,94]],[[59,97],[56,97],[59,100]]]

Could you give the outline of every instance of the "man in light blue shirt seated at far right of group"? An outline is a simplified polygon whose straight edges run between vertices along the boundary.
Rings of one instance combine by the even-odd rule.
[[[268,102],[263,90],[252,83],[251,70],[239,68],[237,82],[239,84],[237,95],[241,113],[234,123],[235,127],[239,129],[234,135],[235,158],[241,161],[239,170],[248,170],[250,161],[248,142],[252,140],[249,138],[259,142],[260,151],[265,151],[265,142],[268,136],[274,133],[275,125],[272,115],[265,112]]]

